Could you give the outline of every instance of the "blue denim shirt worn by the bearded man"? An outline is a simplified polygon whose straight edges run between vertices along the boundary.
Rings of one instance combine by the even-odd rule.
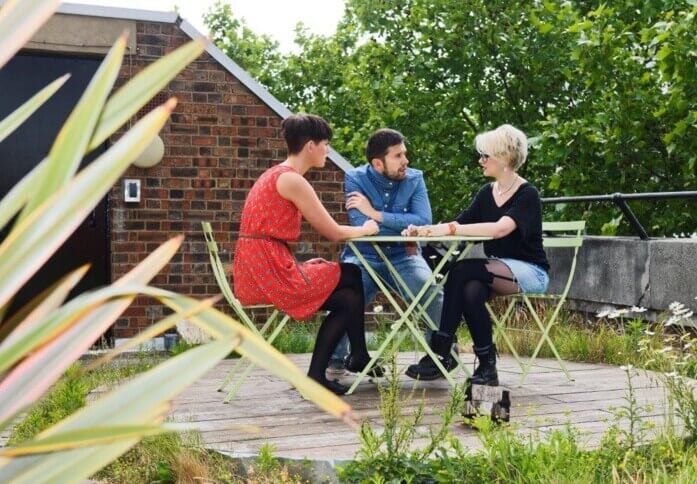
[[[420,170],[407,168],[407,176],[400,181],[390,180],[371,165],[363,165],[346,173],[345,195],[360,192],[370,200],[375,210],[382,212],[380,235],[399,235],[408,225],[426,225],[431,223],[431,203]],[[354,226],[363,225],[368,217],[353,208],[348,211],[349,223]],[[357,244],[365,257],[378,259],[378,254],[368,243]],[[383,244],[380,247],[387,257],[406,255],[404,244]],[[348,247],[344,247],[341,258],[353,255]]]

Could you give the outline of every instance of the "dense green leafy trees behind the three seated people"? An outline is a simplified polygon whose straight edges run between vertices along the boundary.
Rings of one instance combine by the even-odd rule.
[[[292,110],[330,120],[353,164],[370,132],[402,131],[444,220],[484,182],[474,136],[505,122],[534,139],[522,174],[543,196],[694,188],[696,13],[678,0],[347,0],[334,35],[300,25],[299,52],[280,57],[229,7],[216,5],[207,25]],[[690,233],[689,203],[632,208],[651,235]],[[592,233],[630,232],[611,205],[547,211],[588,220]]]

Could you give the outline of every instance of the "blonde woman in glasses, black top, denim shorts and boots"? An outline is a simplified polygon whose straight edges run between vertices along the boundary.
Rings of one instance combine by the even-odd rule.
[[[486,301],[495,295],[545,292],[549,263],[542,248],[540,195],[517,173],[527,157],[525,134],[504,124],[478,135],[475,145],[483,175],[495,181],[484,185],[455,221],[409,226],[402,235],[493,238],[484,242],[487,259],[465,259],[450,269],[440,328],[431,337],[430,346],[447,370],[455,368],[450,349],[464,316],[479,359],[471,383],[495,386],[498,385],[496,347]],[[411,365],[407,375],[421,380],[443,377],[428,355],[417,365]]]

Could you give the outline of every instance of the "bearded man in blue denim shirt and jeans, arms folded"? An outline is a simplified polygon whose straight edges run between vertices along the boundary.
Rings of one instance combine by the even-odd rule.
[[[404,136],[392,129],[379,129],[372,134],[366,146],[368,164],[346,173],[346,209],[351,225],[362,225],[368,218],[380,226],[379,235],[400,235],[408,225],[431,223],[431,204],[420,170],[408,168],[407,148]],[[356,244],[366,261],[380,277],[401,293],[397,282],[392,278],[380,256],[369,243]],[[391,243],[380,247],[397,272],[402,276],[412,294],[417,294],[424,282],[431,276],[431,269],[421,257],[420,249],[414,244]],[[344,247],[342,261],[361,267],[365,302],[369,304],[377,294],[378,287],[358,258],[348,247]],[[432,285],[430,291],[437,291],[427,308],[428,315],[440,324],[443,306],[443,293]],[[427,331],[427,340],[430,331]],[[348,338],[344,336],[337,345],[329,371],[343,373],[343,359],[348,354]]]

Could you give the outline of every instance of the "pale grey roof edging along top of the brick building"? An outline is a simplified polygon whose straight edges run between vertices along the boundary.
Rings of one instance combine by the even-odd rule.
[[[0,1],[0,5],[4,3]],[[149,22],[173,23],[179,25],[182,31],[192,39],[205,37],[191,23],[182,19],[176,12],[158,12],[155,10],[139,10],[132,8],[121,7],[102,7],[99,5],[78,4],[78,3],[63,3],[58,7],[58,13],[71,15],[85,15],[92,17],[108,17],[121,18],[128,20],[142,20]],[[271,94],[264,86],[259,84],[252,76],[249,75],[235,61],[230,59],[222,50],[216,47],[212,42],[208,43],[206,52],[210,54],[220,65],[222,65],[230,74],[235,76],[239,81],[254,93],[261,101],[266,104],[271,110],[285,119],[293,114],[286,106],[283,105],[276,97]],[[333,148],[329,150],[329,159],[344,172],[353,168],[346,158],[337,153]]]

